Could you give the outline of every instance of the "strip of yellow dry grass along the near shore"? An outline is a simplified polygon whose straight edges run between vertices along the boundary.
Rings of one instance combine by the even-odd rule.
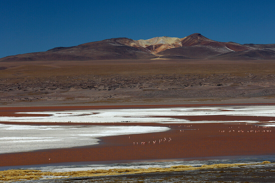
[[[262,165],[271,163],[264,161],[262,163],[253,164],[214,164],[202,165],[200,167],[193,167],[187,165],[171,166],[170,168],[114,168],[109,170],[88,170],[88,171],[69,171],[69,172],[42,172],[40,170],[5,170],[0,171],[0,181],[18,181],[18,180],[35,180],[42,176],[70,176],[70,177],[86,177],[86,176],[103,176],[103,175],[119,175],[119,174],[137,174],[137,173],[153,173],[153,172],[171,172],[171,171],[185,171],[185,170],[199,170],[212,168],[227,168],[247,165]]]

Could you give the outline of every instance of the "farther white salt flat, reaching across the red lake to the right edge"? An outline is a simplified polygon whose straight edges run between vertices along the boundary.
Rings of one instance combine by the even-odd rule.
[[[188,123],[186,119],[155,118],[151,116],[205,116],[205,115],[237,115],[237,116],[271,116],[275,117],[274,106],[209,106],[178,107],[153,109],[108,109],[78,111],[45,111],[25,114],[49,114],[47,117],[0,117],[0,121],[16,122],[158,122]],[[201,122],[201,121],[197,121]],[[220,121],[211,121],[220,122]],[[236,121],[239,122],[239,121]],[[247,121],[257,122],[257,121]],[[196,123],[196,121],[194,121]]]

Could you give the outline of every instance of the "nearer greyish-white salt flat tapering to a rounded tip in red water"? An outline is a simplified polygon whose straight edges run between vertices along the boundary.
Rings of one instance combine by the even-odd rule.
[[[0,153],[70,148],[99,143],[99,137],[163,132],[167,127],[147,126],[32,126],[0,124]]]

